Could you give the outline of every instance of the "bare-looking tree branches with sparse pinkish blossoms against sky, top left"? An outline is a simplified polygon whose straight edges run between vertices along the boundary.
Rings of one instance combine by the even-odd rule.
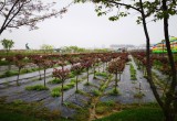
[[[30,26],[30,30],[38,29],[37,23],[45,19],[62,15],[66,8],[55,10],[55,2],[46,3],[42,0],[1,0],[0,1],[0,35],[7,29],[19,29]]]

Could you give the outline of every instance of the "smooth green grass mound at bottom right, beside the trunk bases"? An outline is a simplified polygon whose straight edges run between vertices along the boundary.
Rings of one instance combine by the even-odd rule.
[[[159,108],[135,108],[111,114],[95,121],[164,121]]]

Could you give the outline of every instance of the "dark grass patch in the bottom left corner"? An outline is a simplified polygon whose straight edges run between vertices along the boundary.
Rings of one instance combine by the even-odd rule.
[[[0,100],[0,121],[62,121],[59,110],[50,111],[40,102],[15,100],[7,103]]]

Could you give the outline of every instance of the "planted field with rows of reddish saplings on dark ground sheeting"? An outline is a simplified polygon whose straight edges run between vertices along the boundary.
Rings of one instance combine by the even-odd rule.
[[[0,73],[1,103],[38,103],[37,109],[55,112],[53,120],[95,120],[124,110],[126,105],[156,102],[145,67],[134,54],[15,55],[1,57],[1,64],[4,62]],[[154,74],[163,95],[165,87],[163,80],[158,81],[162,73],[154,68]],[[7,111],[10,107],[2,108]]]

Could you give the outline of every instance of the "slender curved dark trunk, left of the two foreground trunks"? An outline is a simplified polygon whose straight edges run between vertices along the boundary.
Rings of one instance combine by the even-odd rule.
[[[149,40],[149,35],[148,35],[148,31],[147,31],[147,25],[146,25],[146,18],[145,18],[145,13],[144,13],[144,8],[143,8],[143,2],[142,0],[139,0],[140,3],[140,11],[142,11],[142,20],[143,20],[143,28],[144,28],[144,32],[145,32],[145,36],[146,36],[146,69],[147,69],[147,81],[150,85],[150,88],[153,90],[153,94],[158,102],[158,105],[162,107],[163,109],[163,101],[157,92],[157,88],[153,81],[152,78],[152,68],[150,68],[150,40]]]

